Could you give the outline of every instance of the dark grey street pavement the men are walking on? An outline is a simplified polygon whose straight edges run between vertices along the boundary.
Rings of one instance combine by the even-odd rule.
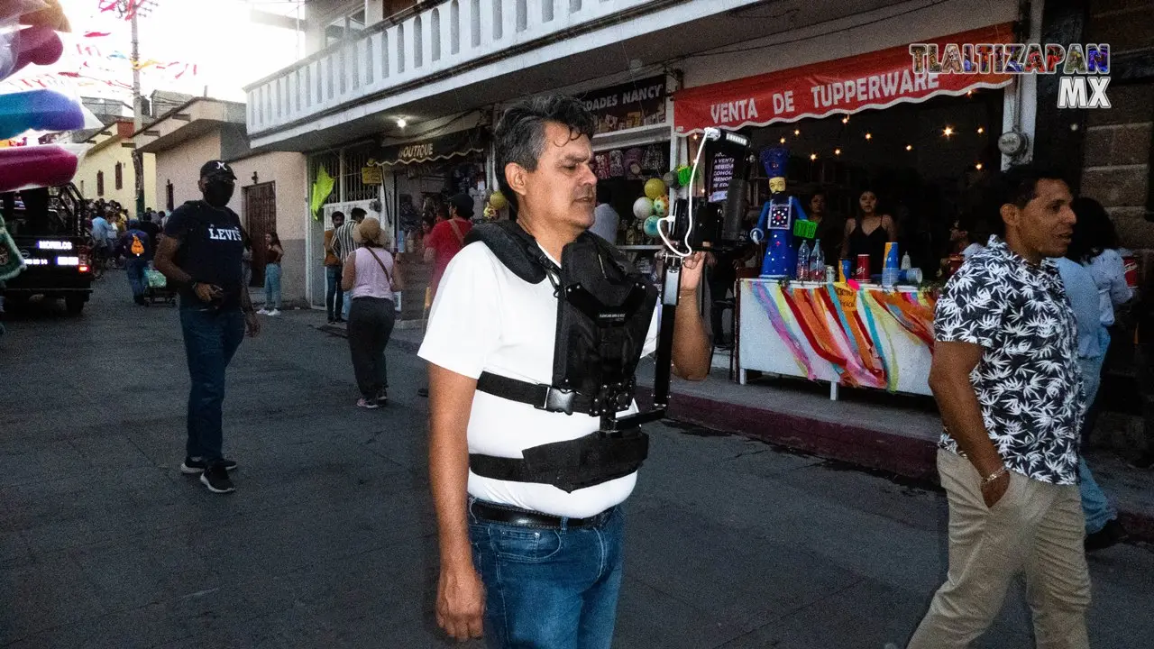
[[[174,308],[136,307],[112,275],[81,318],[10,314],[0,646],[452,646],[432,613],[422,364],[390,350],[391,403],[359,410],[346,342],[317,321],[265,318],[241,346],[225,403],[238,491],[216,495],[178,470]],[[904,646],[945,575],[941,493],[702,427],[649,430],[615,647]],[[1093,646],[1148,648],[1154,552],[1114,547],[1091,570]],[[1032,646],[1021,590],[975,647]]]

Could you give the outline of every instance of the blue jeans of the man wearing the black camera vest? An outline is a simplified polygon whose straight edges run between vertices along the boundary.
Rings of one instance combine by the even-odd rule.
[[[620,507],[600,527],[561,530],[482,521],[470,507],[473,562],[485,583],[486,644],[609,649],[623,530]]]

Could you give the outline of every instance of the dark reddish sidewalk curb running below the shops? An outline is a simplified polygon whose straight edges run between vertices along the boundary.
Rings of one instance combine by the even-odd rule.
[[[349,336],[343,327],[321,324],[316,328],[334,336]],[[420,343],[394,338],[389,341],[389,346],[417,353]],[[637,404],[643,409],[653,404],[650,389],[640,387],[638,390]],[[667,416],[685,424],[763,440],[818,457],[938,484],[935,441],[691,395],[673,395]],[[1131,540],[1154,543],[1154,515],[1121,510],[1118,521],[1130,532]]]

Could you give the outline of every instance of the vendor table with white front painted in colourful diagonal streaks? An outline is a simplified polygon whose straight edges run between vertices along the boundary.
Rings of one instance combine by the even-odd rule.
[[[929,395],[934,297],[913,286],[740,279],[737,380],[756,370]]]

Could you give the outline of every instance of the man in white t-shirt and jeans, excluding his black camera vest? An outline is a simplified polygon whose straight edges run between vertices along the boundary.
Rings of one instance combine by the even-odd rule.
[[[594,126],[577,99],[541,97],[509,109],[496,128],[501,188],[517,207],[517,225],[557,267],[562,249],[593,223]],[[679,296],[687,305],[697,304],[700,262],[697,254],[683,266]],[[470,470],[470,454],[520,458],[526,449],[600,428],[595,416],[478,389],[482,373],[553,382],[557,300],[552,282],[525,281],[485,243],[473,243],[450,262],[433,304],[419,355],[429,363],[436,617],[458,640],[479,637],[482,628],[490,647],[608,649],[613,639],[622,577],[617,506],[632,492],[636,471],[563,491]],[[654,311],[643,355],[657,348],[657,322]],[[704,379],[709,344],[697,309],[680,309],[672,350],[677,375]]]

